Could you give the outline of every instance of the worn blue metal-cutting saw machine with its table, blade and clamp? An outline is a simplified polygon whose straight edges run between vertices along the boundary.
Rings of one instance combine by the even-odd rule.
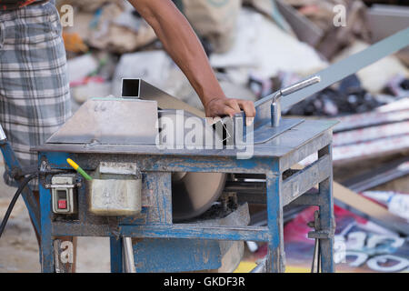
[[[233,271],[243,241],[268,243],[256,271],[283,272],[283,207],[290,203],[320,206],[320,226],[310,235],[320,239],[322,270],[334,271],[336,122],[281,118],[275,109],[280,97],[319,81],[280,91],[254,125],[244,115],[209,123],[141,79],[125,79],[121,97],[88,100],[36,148],[43,271],[67,267],[55,236],[109,236],[113,272]],[[312,165],[283,177],[314,153]],[[319,193],[304,195],[315,185]],[[267,226],[248,226],[248,203],[267,206]]]

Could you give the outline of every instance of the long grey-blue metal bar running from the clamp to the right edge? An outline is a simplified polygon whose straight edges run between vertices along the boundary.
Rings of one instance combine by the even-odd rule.
[[[321,77],[321,82],[283,97],[281,100],[282,110],[303,101],[306,97],[320,92],[324,88],[343,80],[348,75],[353,75],[365,66],[372,65],[385,56],[392,55],[408,45],[409,27],[369,46],[362,52],[351,55],[334,65],[330,65],[323,71],[314,74]],[[270,105],[274,95],[275,93],[268,95],[254,104],[257,111],[254,119],[255,127],[270,122]]]

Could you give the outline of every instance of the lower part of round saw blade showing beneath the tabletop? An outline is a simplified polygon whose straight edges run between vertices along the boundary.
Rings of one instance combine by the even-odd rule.
[[[226,180],[224,173],[186,173],[172,184],[174,220],[200,216],[222,194]]]

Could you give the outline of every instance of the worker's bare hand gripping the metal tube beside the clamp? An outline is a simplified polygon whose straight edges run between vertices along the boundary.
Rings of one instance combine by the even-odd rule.
[[[206,117],[225,115],[233,117],[236,113],[240,113],[242,110],[245,113],[245,124],[252,125],[255,116],[255,108],[252,101],[219,97],[213,98],[205,104]]]

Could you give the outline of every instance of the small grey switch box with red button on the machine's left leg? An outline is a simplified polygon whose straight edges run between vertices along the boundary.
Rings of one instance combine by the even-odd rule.
[[[53,212],[74,214],[77,211],[75,175],[56,175],[51,179]]]

